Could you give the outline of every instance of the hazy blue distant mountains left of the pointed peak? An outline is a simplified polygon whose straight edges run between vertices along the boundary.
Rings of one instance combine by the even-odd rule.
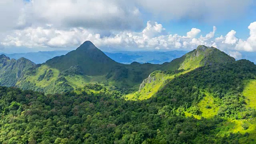
[[[31,60],[32,62],[36,64],[42,64],[46,62],[46,60],[49,60],[51,58],[54,58],[55,56],[61,56],[69,51],[67,50],[56,50],[56,51],[49,51],[49,52],[28,52],[28,53],[16,53],[16,54],[4,54],[8,56],[9,58],[14,58],[18,60],[19,58],[26,58],[28,60]]]

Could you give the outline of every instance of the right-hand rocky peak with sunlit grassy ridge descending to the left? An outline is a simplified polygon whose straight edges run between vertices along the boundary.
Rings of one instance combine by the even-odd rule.
[[[168,81],[180,74],[190,72],[200,66],[208,64],[234,62],[235,59],[214,47],[198,46],[170,63],[162,65],[162,71],[156,71],[145,79],[138,92],[126,95],[128,100],[144,100],[150,98],[160,90]],[[175,72],[176,71],[176,72]]]

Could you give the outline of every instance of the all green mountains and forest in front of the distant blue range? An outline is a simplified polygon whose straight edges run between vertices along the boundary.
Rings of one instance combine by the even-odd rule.
[[[90,41],[43,64],[0,55],[1,144],[255,144],[256,65],[198,46],[120,64]]]

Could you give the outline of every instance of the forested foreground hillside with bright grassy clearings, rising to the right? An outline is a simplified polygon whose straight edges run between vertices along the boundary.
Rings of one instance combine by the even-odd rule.
[[[100,84],[48,95],[0,87],[0,143],[254,144],[255,76],[248,60],[210,64],[143,101]]]

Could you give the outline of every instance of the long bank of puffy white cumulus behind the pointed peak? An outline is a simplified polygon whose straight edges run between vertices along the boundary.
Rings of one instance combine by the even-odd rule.
[[[26,46],[31,48],[56,48],[79,46],[82,42],[91,40],[96,46],[108,46],[126,50],[191,50],[200,44],[212,46],[214,43],[206,37],[194,38],[200,31],[197,28],[192,28],[187,33],[187,36],[167,34],[162,24],[151,21],[147,22],[146,27],[141,32],[124,30],[112,33],[110,36],[101,36],[82,27],[68,30],[58,30],[51,26],[29,27],[24,30],[14,30],[6,36],[2,44],[5,46]]]

